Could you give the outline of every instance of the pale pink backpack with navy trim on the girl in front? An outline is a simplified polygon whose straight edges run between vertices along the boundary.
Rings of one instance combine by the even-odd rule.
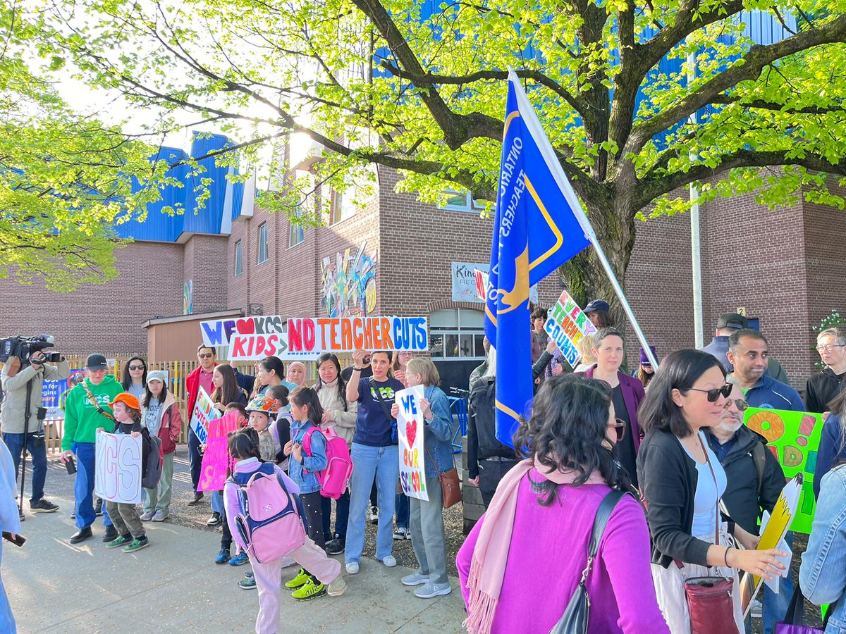
[[[272,462],[253,473],[233,473],[239,485],[235,526],[247,550],[261,564],[281,559],[305,544],[299,499],[291,495]]]

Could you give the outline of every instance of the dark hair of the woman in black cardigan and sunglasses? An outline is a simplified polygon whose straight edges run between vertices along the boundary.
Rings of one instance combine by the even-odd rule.
[[[645,431],[664,429],[678,438],[692,434],[693,429],[690,429],[681,408],[673,402],[673,390],[689,391],[696,380],[711,368],[719,368],[725,377],[726,369],[711,354],[700,350],[677,350],[668,354],[649,384],[645,399],[640,403],[640,426]]]

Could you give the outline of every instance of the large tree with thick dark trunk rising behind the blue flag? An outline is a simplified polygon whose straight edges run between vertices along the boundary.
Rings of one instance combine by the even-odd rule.
[[[790,14],[772,0],[81,4],[53,11],[53,54],[139,103],[228,123],[245,146],[309,134],[326,149],[316,179],[334,189],[373,161],[423,199],[445,187],[495,199],[513,66],[620,281],[635,218],[688,208],[673,193],[689,183],[705,200],[843,207],[828,189],[846,176],[842,2]],[[759,18],[784,37],[744,37]],[[594,258],[566,281],[612,298]]]

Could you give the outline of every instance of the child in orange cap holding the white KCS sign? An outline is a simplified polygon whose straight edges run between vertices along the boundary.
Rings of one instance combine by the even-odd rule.
[[[147,464],[147,456],[150,456],[151,440],[150,432],[146,427],[141,426],[141,404],[138,397],[123,392],[114,397],[109,403],[112,406],[114,419],[117,423],[114,428],[115,434],[128,434],[134,437],[141,437],[141,473]],[[97,433],[105,431],[102,427]],[[138,506],[135,504],[118,504],[118,502],[107,501],[106,510],[112,518],[114,527],[118,530],[118,537],[106,544],[106,548],[124,547],[124,553],[134,553],[136,550],[146,548],[150,545],[141,523],[138,513]]]

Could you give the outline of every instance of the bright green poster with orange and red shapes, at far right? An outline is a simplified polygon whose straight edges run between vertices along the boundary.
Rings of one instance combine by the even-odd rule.
[[[791,529],[810,534],[816,508],[814,472],[822,435],[822,414],[750,407],[744,414],[744,422],[749,429],[766,438],[786,478],[802,474],[799,509]]]

